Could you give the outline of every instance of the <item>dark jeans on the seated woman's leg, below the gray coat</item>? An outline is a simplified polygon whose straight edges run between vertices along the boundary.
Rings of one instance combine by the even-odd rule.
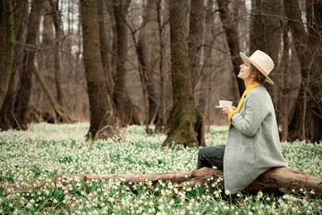
[[[212,168],[224,169],[225,145],[215,147],[204,147],[199,150],[197,169]]]

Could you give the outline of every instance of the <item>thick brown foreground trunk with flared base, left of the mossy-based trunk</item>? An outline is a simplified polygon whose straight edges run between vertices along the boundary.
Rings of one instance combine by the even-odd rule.
[[[83,55],[89,91],[90,126],[88,137],[106,139],[117,134],[114,109],[106,90],[100,56],[97,0],[81,0]]]

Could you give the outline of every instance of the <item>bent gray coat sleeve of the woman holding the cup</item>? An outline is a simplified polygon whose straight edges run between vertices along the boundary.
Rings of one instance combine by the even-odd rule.
[[[249,93],[243,103],[244,114],[239,112],[232,116],[232,125],[239,131],[249,137],[257,133],[259,126],[269,114],[267,100],[265,95],[260,93]]]

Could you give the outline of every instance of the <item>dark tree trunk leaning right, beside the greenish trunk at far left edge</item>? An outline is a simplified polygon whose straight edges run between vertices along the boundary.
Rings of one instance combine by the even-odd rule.
[[[30,123],[30,93],[32,86],[32,69],[34,66],[34,56],[36,52],[36,39],[41,18],[43,1],[34,0],[31,4],[30,16],[28,18],[28,31],[26,36],[26,47],[22,57],[21,85],[17,93],[14,108],[18,126],[27,129]]]

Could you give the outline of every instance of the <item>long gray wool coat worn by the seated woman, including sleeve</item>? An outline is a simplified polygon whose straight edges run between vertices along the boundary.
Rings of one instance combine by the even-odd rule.
[[[265,87],[246,95],[232,116],[224,157],[225,190],[238,193],[269,168],[287,167],[282,155],[275,110]]]

